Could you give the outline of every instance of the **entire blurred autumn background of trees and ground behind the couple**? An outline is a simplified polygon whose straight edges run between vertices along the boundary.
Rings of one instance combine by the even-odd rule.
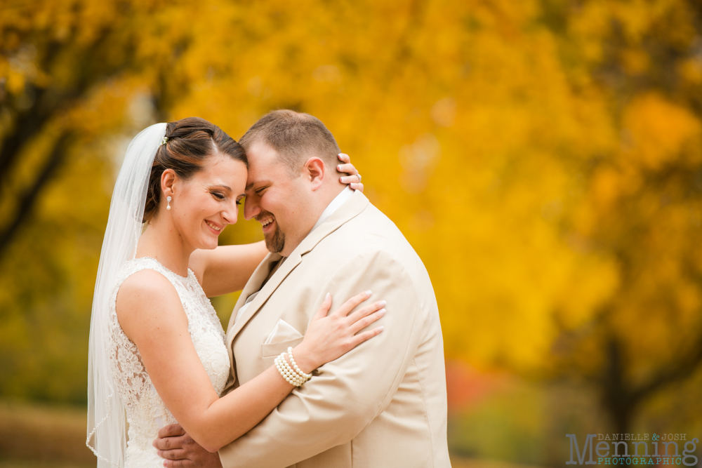
[[[0,467],[95,466],[88,327],[131,138],[201,116],[238,139],[277,108],[326,123],[428,268],[455,467],[702,436],[699,1],[0,0]]]

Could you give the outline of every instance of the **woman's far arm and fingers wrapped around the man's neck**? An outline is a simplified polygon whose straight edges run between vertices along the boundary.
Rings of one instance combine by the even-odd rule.
[[[340,182],[363,192],[358,171],[348,154],[339,154],[337,172]],[[214,297],[244,289],[253,270],[263,260],[268,250],[263,241],[238,246],[219,246],[214,250],[195,250],[190,255],[188,267],[197,276],[207,297]]]

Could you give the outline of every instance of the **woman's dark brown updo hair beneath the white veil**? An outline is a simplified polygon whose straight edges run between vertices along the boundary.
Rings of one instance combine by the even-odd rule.
[[[213,123],[199,117],[187,117],[166,124],[166,142],[159,146],[151,166],[143,222],[150,221],[161,203],[161,175],[173,169],[179,178],[188,179],[201,170],[205,159],[213,154],[227,154],[249,167],[244,149],[234,138]]]

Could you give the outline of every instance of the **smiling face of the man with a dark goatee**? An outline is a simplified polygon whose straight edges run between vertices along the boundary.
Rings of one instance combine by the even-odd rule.
[[[307,226],[305,178],[292,177],[278,152],[264,142],[253,143],[246,156],[249,179],[244,218],[261,223],[268,250],[290,255],[312,227]]]

